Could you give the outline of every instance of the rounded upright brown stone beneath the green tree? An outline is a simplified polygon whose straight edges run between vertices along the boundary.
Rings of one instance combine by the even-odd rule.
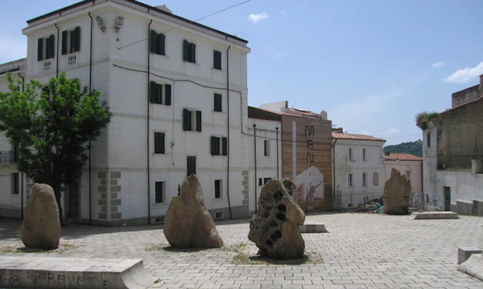
[[[59,248],[61,223],[54,190],[45,183],[35,183],[30,201],[23,211],[20,238],[27,248]]]

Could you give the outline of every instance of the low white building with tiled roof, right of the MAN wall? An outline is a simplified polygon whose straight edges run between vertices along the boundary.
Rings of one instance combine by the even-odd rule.
[[[332,132],[334,208],[357,208],[382,198],[386,176],[386,141],[364,134]]]

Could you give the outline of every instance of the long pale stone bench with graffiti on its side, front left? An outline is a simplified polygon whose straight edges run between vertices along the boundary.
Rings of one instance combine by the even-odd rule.
[[[0,288],[148,288],[141,259],[0,256]]]

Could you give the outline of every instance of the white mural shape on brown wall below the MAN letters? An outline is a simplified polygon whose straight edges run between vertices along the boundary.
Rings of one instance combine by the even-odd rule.
[[[294,183],[297,185],[297,195],[302,192],[302,200],[306,202],[308,210],[313,210],[315,198],[324,199],[324,174],[317,167],[311,166],[295,176]]]

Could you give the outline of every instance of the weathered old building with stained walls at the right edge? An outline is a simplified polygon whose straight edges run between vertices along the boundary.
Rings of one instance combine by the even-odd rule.
[[[428,210],[483,216],[483,75],[453,93],[453,106],[423,130],[423,186]]]

